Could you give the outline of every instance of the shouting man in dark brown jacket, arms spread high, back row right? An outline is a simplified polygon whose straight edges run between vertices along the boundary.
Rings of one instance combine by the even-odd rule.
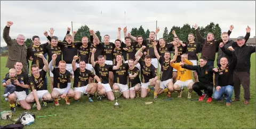
[[[199,42],[203,45],[202,46],[202,54],[201,56],[206,56],[208,61],[207,64],[210,66],[214,66],[214,61],[215,61],[215,53],[217,48],[220,45],[220,42],[222,42],[222,39],[219,40],[214,40],[214,34],[209,32],[207,34],[206,40],[201,36],[201,34],[198,31],[198,26],[197,24],[194,25],[195,31],[196,31],[196,36],[199,40]],[[228,31],[228,36],[230,35],[231,31]]]

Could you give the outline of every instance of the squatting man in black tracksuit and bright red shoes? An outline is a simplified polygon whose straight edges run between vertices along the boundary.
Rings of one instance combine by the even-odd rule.
[[[212,102],[212,93],[213,93],[213,73],[217,73],[218,69],[214,68],[207,64],[207,57],[201,56],[199,59],[199,65],[187,65],[182,66],[188,70],[196,71],[198,74],[199,82],[196,82],[192,85],[193,90],[198,94],[198,101],[203,101],[205,94],[201,90],[206,90],[208,97],[206,102]]]

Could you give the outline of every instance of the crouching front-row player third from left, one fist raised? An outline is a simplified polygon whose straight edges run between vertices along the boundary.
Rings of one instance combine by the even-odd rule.
[[[66,62],[60,61],[59,67],[53,67],[52,64],[57,58],[56,54],[52,55],[52,61],[49,64],[50,71],[53,73],[53,91],[52,99],[55,99],[55,106],[59,106],[58,97],[65,98],[66,104],[70,105],[69,98],[74,97],[74,91],[71,89],[71,74],[66,70]]]

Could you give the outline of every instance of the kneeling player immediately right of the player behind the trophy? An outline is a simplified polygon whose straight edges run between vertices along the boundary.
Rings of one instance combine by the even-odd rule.
[[[129,74],[129,78],[128,78],[128,87],[130,90],[130,98],[133,99],[135,97],[135,93],[137,98],[139,97],[139,91],[141,88],[141,84],[140,84],[140,70],[138,67],[134,66],[134,61],[133,59],[129,59],[128,60],[128,65],[129,65],[129,69],[128,69],[128,74]]]

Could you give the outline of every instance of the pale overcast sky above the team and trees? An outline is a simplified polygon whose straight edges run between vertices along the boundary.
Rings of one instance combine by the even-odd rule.
[[[233,24],[230,38],[245,36],[249,25],[253,38],[255,1],[1,1],[1,46],[6,46],[2,35],[7,21],[13,22],[11,38],[17,38],[19,33],[26,39],[37,35],[44,43],[45,30],[54,28],[54,35],[62,40],[71,21],[73,30],[86,24],[99,30],[101,36],[110,35],[113,41],[118,27],[123,29],[126,25],[130,32],[142,25],[145,31],[155,31],[156,20],[161,29],[158,38],[163,36],[165,27],[170,32],[173,25],[197,23],[205,27],[210,22],[219,23],[222,32]]]

